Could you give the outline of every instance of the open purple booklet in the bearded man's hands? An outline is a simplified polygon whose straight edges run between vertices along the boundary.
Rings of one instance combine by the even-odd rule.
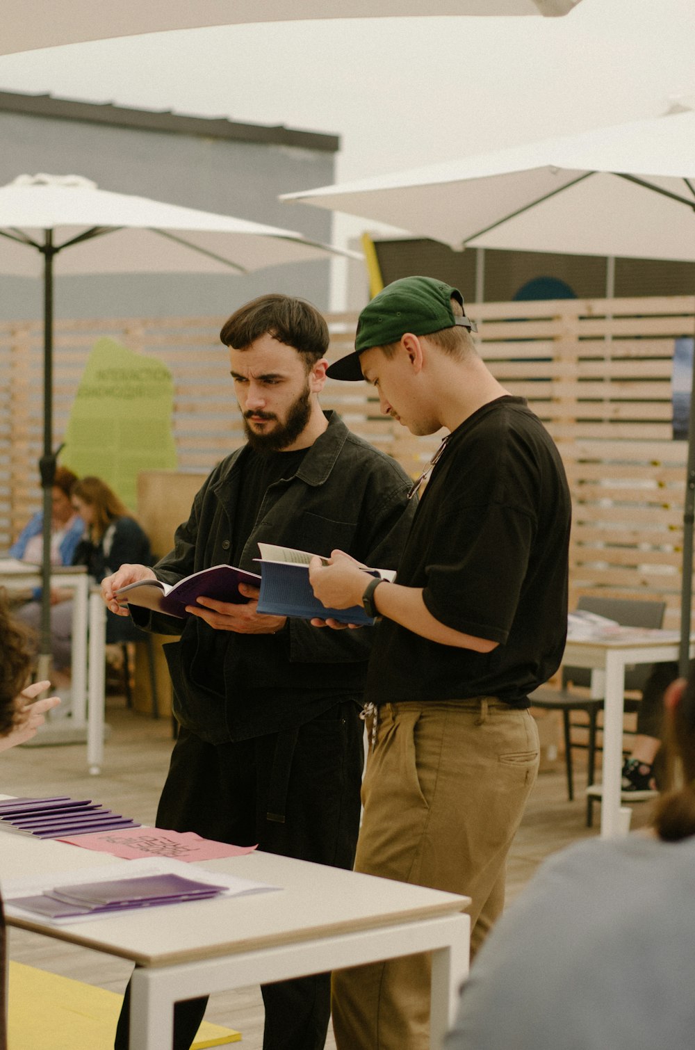
[[[239,594],[239,584],[260,586],[260,576],[233,565],[213,565],[209,569],[184,576],[177,584],[165,584],[162,580],[139,580],[115,591],[125,607],[139,605],[154,612],[166,612],[170,616],[185,620],[187,605],[195,605],[198,597],[213,597],[218,602],[243,605],[249,598]]]

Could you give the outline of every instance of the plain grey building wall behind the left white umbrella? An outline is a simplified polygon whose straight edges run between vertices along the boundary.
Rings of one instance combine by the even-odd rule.
[[[79,174],[102,189],[237,215],[321,242],[331,239],[330,213],[283,205],[277,196],[334,182],[334,158],[295,146],[0,112],[0,185],[23,173]],[[240,277],[59,277],[55,311],[57,317],[225,314],[269,291],[327,309],[329,262]],[[0,275],[0,318],[37,318],[41,310],[40,281]]]

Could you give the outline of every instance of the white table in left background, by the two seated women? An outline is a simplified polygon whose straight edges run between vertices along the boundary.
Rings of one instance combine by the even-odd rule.
[[[100,773],[104,759],[106,610],[84,566],[52,566],[51,579],[73,592],[72,707],[66,730],[72,734],[85,731],[87,766],[90,773]],[[0,584],[7,590],[40,587],[41,569],[15,559],[0,559]],[[57,735],[60,727],[61,722],[55,723]]]

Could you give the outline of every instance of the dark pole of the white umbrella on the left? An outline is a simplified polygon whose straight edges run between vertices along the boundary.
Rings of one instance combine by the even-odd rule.
[[[52,230],[45,230],[43,254],[43,455],[39,460],[43,488],[43,555],[41,562],[41,633],[37,674],[50,678],[50,522],[56,479],[54,444],[54,255]]]

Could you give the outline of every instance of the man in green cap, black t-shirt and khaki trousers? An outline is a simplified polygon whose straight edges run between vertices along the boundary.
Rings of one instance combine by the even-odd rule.
[[[570,498],[550,436],[488,371],[471,329],[461,293],[429,277],[364,308],[355,353],[328,374],[364,378],[413,434],[448,434],[413,486],[429,475],[395,583],[365,586],[341,551],[310,571],[324,605],[380,617],[355,867],[471,897],[475,951],[502,911],[538,771],[528,694],[565,646]],[[333,1020],[339,1050],[426,1050],[428,957],[338,971]]]

